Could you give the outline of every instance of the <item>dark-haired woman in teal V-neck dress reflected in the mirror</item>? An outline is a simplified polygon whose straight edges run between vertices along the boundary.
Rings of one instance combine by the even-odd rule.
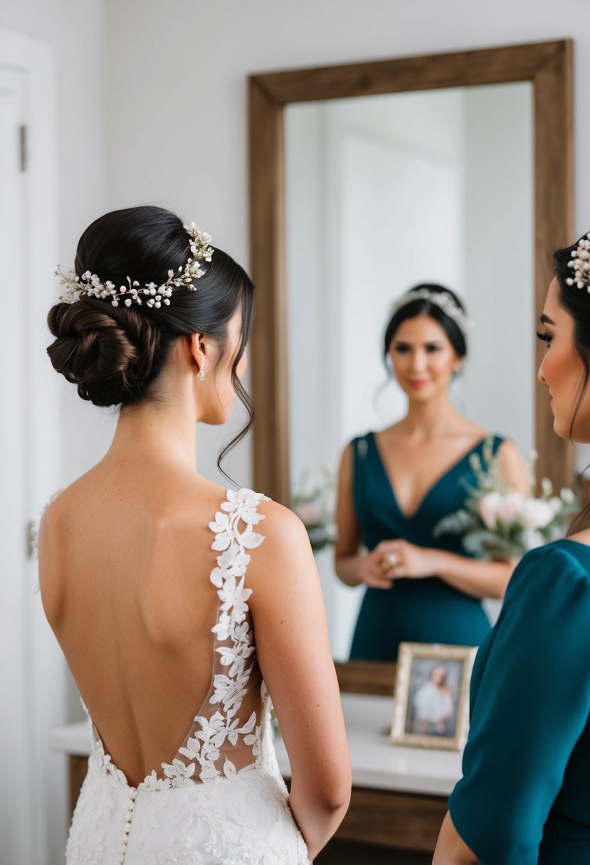
[[[434,536],[476,484],[470,458],[488,437],[453,408],[448,390],[466,355],[465,310],[448,289],[417,285],[395,304],[383,354],[408,398],[407,415],[354,439],[338,484],[336,570],[367,586],[351,659],[395,661],[401,641],[479,645],[490,631],[483,598],[501,598],[511,567],[473,561],[456,535]],[[527,492],[510,441],[492,438],[504,475]],[[368,552],[363,553],[364,547]]]

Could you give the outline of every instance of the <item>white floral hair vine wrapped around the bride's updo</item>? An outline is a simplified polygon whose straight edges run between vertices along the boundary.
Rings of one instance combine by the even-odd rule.
[[[61,277],[61,285],[66,286],[60,298],[61,303],[75,304],[81,297],[100,298],[101,300],[110,298],[112,306],[119,306],[119,301],[122,301],[125,306],[131,306],[131,304],[141,306],[145,303],[150,309],[159,310],[162,304],[170,306],[173,288],[186,288],[189,292],[196,292],[194,280],[201,279],[205,273],[201,262],[210,261],[215,250],[210,246],[210,234],[200,231],[194,222],[191,222],[190,225],[183,225],[183,228],[189,234],[189,246],[192,254],[183,267],[179,267],[177,271],[169,270],[168,279],[162,285],[149,282],[142,286],[137,280],[131,281],[131,277],[127,277],[127,285],[121,285],[117,288],[109,279],[102,282],[96,273],[87,271],[81,276],[76,276],[72,271],[61,272],[60,265],[58,265],[55,276]]]

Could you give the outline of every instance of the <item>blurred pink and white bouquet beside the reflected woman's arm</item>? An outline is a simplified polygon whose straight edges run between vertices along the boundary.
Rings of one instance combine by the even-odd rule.
[[[463,535],[465,552],[477,559],[519,559],[529,549],[564,537],[579,505],[574,492],[564,487],[554,494],[548,477],[541,482],[541,497],[523,496],[510,490],[500,472],[499,454],[492,454],[491,439],[485,442],[483,460],[477,453],[470,465],[477,486],[468,486],[465,508],[444,517],[434,535]],[[531,485],[535,478],[536,453],[525,459]]]

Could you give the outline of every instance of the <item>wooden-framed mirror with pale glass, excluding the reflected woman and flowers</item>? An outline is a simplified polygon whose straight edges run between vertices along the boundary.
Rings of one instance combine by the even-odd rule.
[[[380,341],[420,281],[457,291],[473,323],[459,411],[571,480],[533,343],[550,253],[574,236],[571,53],[545,42],[251,77],[258,489],[288,503],[302,471],[333,471],[354,435],[401,416],[403,395],[380,391]]]

